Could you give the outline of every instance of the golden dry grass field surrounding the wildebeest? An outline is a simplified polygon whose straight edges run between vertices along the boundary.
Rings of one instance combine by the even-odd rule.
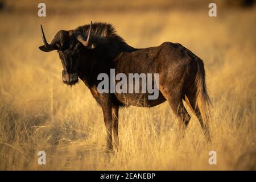
[[[93,3],[93,2],[91,2]],[[255,169],[255,9],[218,11],[100,11],[0,14],[0,169]],[[167,103],[151,109],[121,109],[118,154],[106,155],[100,107],[80,81],[61,80],[56,52],[40,52],[39,24],[50,40],[57,30],[90,20],[112,23],[134,47],[179,42],[204,60],[212,98],[205,143],[195,117],[179,147],[177,119]],[[46,151],[47,164],[37,153]],[[208,152],[217,152],[217,165]]]

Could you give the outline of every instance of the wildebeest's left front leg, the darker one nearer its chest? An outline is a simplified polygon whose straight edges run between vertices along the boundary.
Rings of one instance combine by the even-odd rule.
[[[106,126],[106,150],[111,151],[112,146],[112,103],[108,98],[104,98],[101,102],[101,107],[103,111],[104,122]]]

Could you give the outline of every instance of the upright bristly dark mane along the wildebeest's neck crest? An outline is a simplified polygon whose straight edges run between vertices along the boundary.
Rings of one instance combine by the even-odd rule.
[[[90,24],[85,24],[84,26],[77,27],[77,30],[80,31],[84,36],[87,36],[89,33]],[[96,37],[115,37],[119,40],[124,40],[116,34],[115,28],[112,24],[96,22],[92,24],[92,36]]]

